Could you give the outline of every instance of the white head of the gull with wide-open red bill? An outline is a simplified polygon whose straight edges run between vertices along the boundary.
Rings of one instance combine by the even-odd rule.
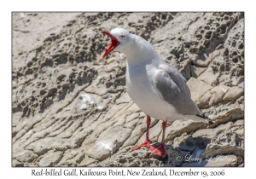
[[[115,49],[115,51],[122,52],[125,45],[131,41],[131,33],[122,28],[114,28],[111,32],[103,31],[102,33],[111,38],[111,44],[102,58],[107,56],[111,51],[113,51],[113,49]]]

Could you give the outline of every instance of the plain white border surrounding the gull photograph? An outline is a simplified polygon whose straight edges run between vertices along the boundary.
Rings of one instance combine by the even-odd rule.
[[[249,1],[248,1],[249,2]],[[252,2],[252,1],[250,1]],[[246,154],[245,154],[245,167],[244,168],[224,168],[225,176],[245,176],[250,174],[253,176],[253,161],[255,154],[255,138],[254,129],[256,125],[253,122],[255,105],[255,13],[253,3],[247,3],[246,1],[236,3],[231,0],[215,0],[215,1],[135,1],[135,0],[83,0],[83,1],[9,1],[8,3],[1,3],[1,176],[4,178],[10,178],[13,176],[32,178],[31,168],[12,168],[11,167],[11,12],[12,11],[245,11],[245,127],[246,127]],[[33,168],[35,169],[35,168]],[[58,168],[60,169],[60,168]],[[65,170],[67,168],[63,168]],[[108,170],[109,168],[93,168],[94,170]],[[131,169],[131,168],[128,168]],[[172,168],[173,170],[182,171],[184,168]],[[68,168],[71,170],[71,168]],[[127,168],[124,168],[127,170]],[[142,168],[133,168],[133,170],[142,170]],[[150,170],[150,168],[147,168]],[[169,169],[168,169],[169,170]],[[210,172],[211,170],[222,170],[222,168],[195,168],[193,170],[205,170]],[[8,177],[6,177],[8,176]],[[49,176],[54,178],[62,178],[63,176]],[[90,178],[90,176],[82,176]],[[111,178],[117,178],[120,176],[111,176]],[[136,176],[137,178],[142,176]],[[147,178],[153,178],[155,176],[147,176]],[[168,176],[171,177],[171,176]],[[181,177],[181,176],[180,176]],[[183,176],[186,177],[187,176]],[[198,177],[198,176],[195,176]],[[34,177],[33,177],[34,178]],[[76,177],[77,178],[77,177]]]

